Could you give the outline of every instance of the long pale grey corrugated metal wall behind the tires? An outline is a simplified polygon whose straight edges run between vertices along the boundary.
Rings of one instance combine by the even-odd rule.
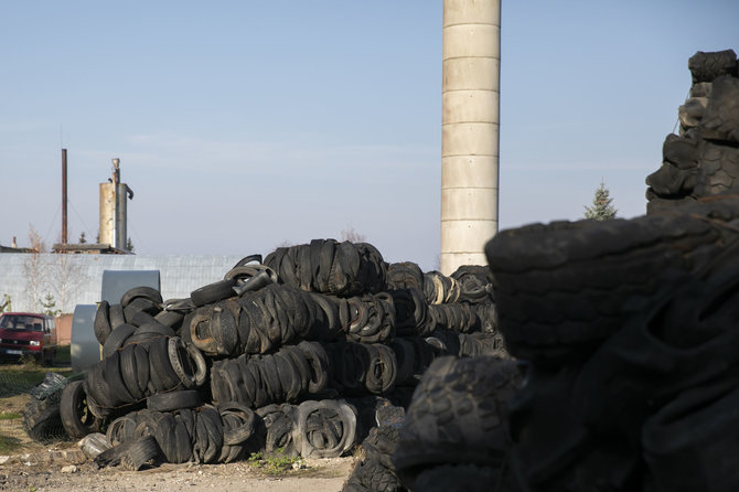
[[[14,311],[41,311],[51,295],[56,309],[100,300],[104,270],[159,270],[162,297],[176,299],[221,280],[239,256],[140,256],[0,254],[0,302],[10,296]]]

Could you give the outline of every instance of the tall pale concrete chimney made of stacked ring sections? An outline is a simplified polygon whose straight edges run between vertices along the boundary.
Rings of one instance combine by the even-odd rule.
[[[441,255],[450,275],[486,265],[497,232],[501,0],[445,0]]]

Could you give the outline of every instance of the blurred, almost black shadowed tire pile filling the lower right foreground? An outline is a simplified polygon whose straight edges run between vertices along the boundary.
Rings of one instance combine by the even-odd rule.
[[[500,329],[527,365],[508,402],[522,490],[739,488],[721,458],[739,452],[737,220],[719,195],[488,243]]]

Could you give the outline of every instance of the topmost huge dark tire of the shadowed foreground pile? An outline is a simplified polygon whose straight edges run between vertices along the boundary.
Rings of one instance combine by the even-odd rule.
[[[629,304],[649,302],[664,271],[705,265],[708,245],[733,233],[704,217],[730,206],[736,204],[696,203],[685,213],[534,224],[496,234],[485,253],[507,350],[550,364],[587,356],[621,329]]]

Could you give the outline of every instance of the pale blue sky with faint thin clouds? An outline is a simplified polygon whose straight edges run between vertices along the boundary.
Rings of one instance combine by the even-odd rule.
[[[136,250],[268,254],[354,228],[437,268],[441,0],[0,2],[0,244],[98,229],[120,158]],[[737,0],[504,0],[501,228],[645,212],[696,51]]]

